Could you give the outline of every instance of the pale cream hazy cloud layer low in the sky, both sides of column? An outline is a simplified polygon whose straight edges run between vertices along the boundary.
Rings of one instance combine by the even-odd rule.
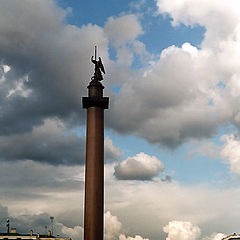
[[[106,166],[105,209],[110,211],[106,221],[110,219],[112,225],[105,233],[116,233],[116,239],[120,234],[126,238],[140,235],[142,238],[165,239],[162,227],[172,221],[173,216],[175,219],[198,224],[204,236],[210,236],[213,231],[236,231],[240,211],[239,188],[182,186],[175,181],[165,184],[160,179],[141,184],[137,181],[118,181],[113,177],[113,164],[110,165]],[[110,168],[111,174],[108,173]],[[36,222],[35,226],[39,226],[38,229],[34,227],[36,232],[45,231],[44,226],[50,222],[49,215],[67,228],[82,227],[83,170],[83,166],[54,166],[33,161],[1,162],[1,204],[9,207],[12,218],[25,215],[29,219],[29,215],[48,213],[45,218],[41,215],[42,220]],[[0,207],[0,213],[3,218],[7,217],[6,209],[1,210]],[[4,232],[5,224],[0,224],[1,226]],[[24,230],[15,226],[19,232]],[[32,223],[26,223],[24,231],[29,232],[31,226]],[[62,225],[58,227],[62,229]],[[77,229],[79,228],[75,230]]]

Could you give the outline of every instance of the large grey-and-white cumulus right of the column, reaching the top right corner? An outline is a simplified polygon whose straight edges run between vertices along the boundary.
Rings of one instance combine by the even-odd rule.
[[[159,0],[157,6],[173,26],[205,27],[204,40],[200,48],[186,42],[164,49],[143,76],[123,84],[108,124],[170,148],[212,137],[229,121],[240,128],[238,1]]]

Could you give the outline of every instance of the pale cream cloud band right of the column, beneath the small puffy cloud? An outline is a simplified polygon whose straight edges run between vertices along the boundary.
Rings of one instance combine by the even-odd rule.
[[[184,186],[176,181],[166,184],[160,179],[141,183],[117,181],[109,171],[105,179],[106,208],[118,216],[128,236],[164,239],[162,228],[173,219],[198,225],[202,236],[234,232],[238,227],[239,188]]]

